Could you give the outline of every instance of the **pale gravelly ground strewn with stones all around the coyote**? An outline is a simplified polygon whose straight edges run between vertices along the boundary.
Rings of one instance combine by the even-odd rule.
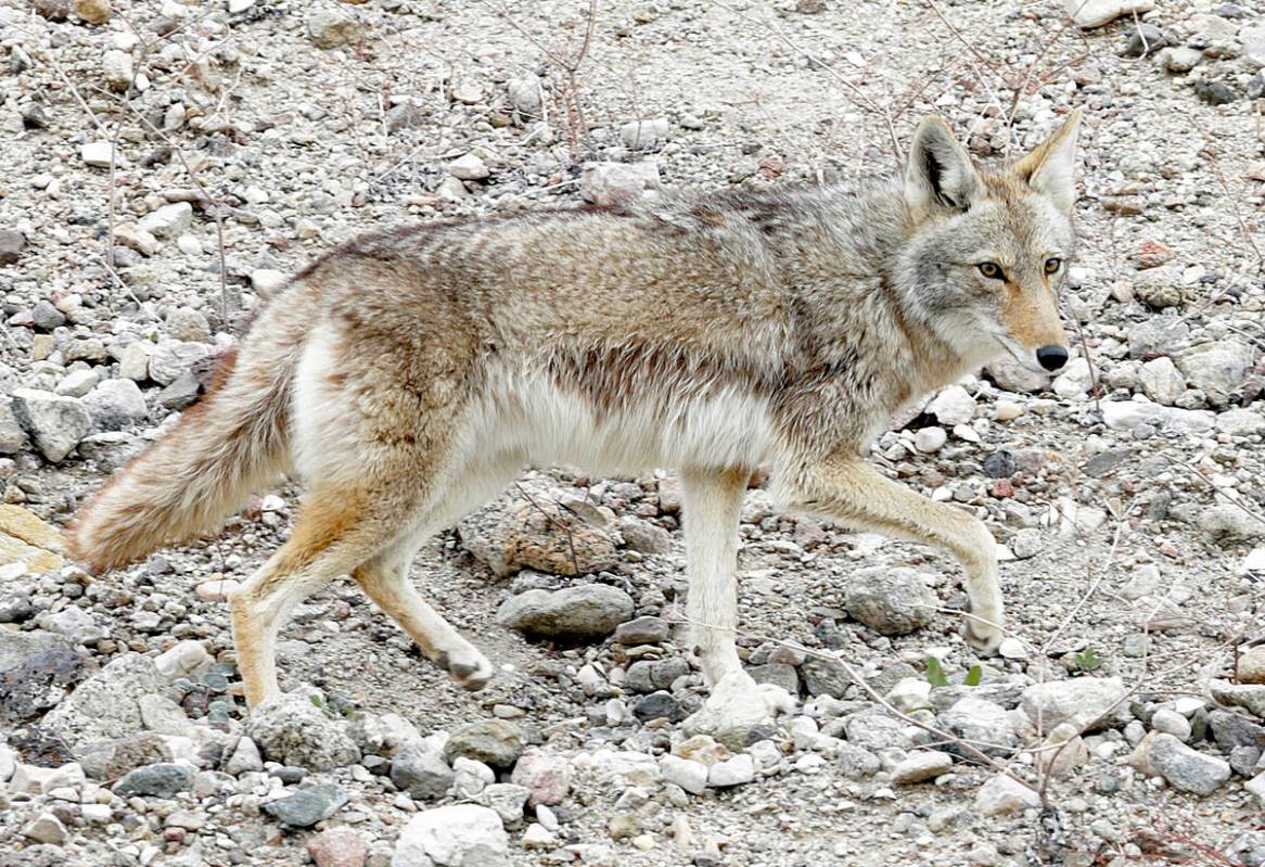
[[[1265,15],[1155,5],[0,4],[0,862],[1265,863]],[[697,734],[667,472],[535,472],[424,551],[500,668],[476,695],[344,582],[245,714],[224,594],[292,487],[134,568],[63,557],[359,232],[889,171],[932,109],[1004,158],[1078,105],[1080,357],[969,377],[873,456],[993,529],[999,658],[955,564],[755,485],[743,653],[801,704]]]

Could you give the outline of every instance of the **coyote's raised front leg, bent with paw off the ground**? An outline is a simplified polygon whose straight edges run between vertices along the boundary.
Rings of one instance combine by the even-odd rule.
[[[970,614],[966,639],[982,653],[1002,643],[1002,589],[997,543],[983,521],[954,506],[932,502],[853,456],[837,456],[786,480],[787,506],[953,554],[966,572]]]

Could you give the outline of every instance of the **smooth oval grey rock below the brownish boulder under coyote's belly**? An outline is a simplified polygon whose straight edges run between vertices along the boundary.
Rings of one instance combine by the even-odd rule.
[[[631,619],[632,597],[605,583],[565,590],[529,590],[511,596],[496,613],[498,623],[544,638],[595,639]]]

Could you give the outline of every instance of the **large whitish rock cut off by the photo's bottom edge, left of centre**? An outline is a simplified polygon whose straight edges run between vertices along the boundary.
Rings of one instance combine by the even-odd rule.
[[[419,813],[400,833],[391,867],[502,867],[510,838],[496,811],[455,804]]]

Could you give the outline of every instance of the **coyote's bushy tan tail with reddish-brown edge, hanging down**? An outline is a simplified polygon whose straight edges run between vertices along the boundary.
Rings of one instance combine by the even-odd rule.
[[[176,427],[80,509],[70,530],[76,558],[105,571],[211,533],[288,467],[290,394],[306,327],[278,308],[224,357]]]

